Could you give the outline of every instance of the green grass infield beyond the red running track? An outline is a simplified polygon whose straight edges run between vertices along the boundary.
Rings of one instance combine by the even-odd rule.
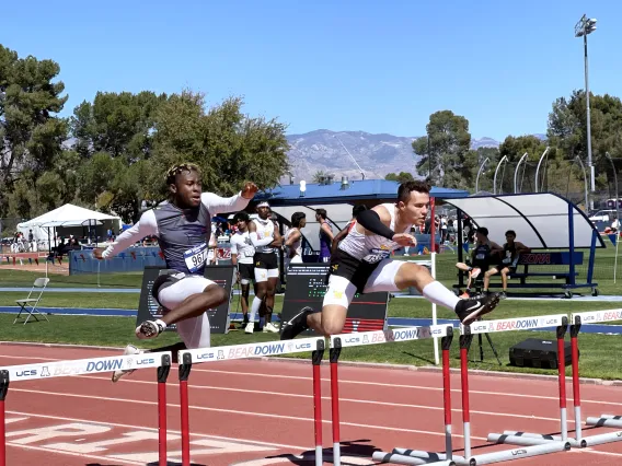
[[[23,298],[24,293],[0,293],[0,305],[12,305],[14,299]],[[235,308],[235,302],[232,304]],[[42,301],[43,306],[54,307],[119,307],[136,308],[138,293],[47,293]],[[275,312],[283,306],[283,298],[277,296]],[[574,312],[598,311],[620,307],[620,303],[586,302],[577,300],[532,301],[507,300],[491,315],[491,318],[522,317],[546,314],[571,314]],[[389,304],[389,316],[392,317],[430,317],[430,305],[422,299],[393,299]],[[452,312],[439,308],[440,318],[453,318]],[[94,316],[49,316],[47,322],[12,325],[14,316],[0,314],[0,340],[34,341],[47,343],[73,343],[123,347],[136,342],[134,337],[135,318],[133,317],[94,317]],[[484,362],[479,362],[476,339],[472,347],[473,369],[508,372],[529,372],[539,374],[555,374],[551,370],[531,368],[515,368],[509,364],[509,348],[526,338],[554,339],[553,333],[543,331],[510,331],[491,334],[503,365],[498,365],[493,352],[484,339]],[[252,336],[240,330],[227,335],[212,335],[214,346],[238,345],[243,342],[267,341],[278,339],[277,335],[255,333]],[[156,348],[178,341],[175,333],[165,333],[157,340],[141,341],[143,348]],[[622,361],[617,358],[622,351],[620,336],[581,335],[580,336],[580,370],[581,376],[606,380],[622,378]],[[430,341],[413,341],[403,343],[378,345],[373,347],[348,348],[343,352],[343,360],[367,361],[408,365],[434,364],[434,351]],[[458,338],[451,351],[452,366],[459,366]],[[569,371],[569,368],[568,368]],[[569,374],[569,372],[568,372]]]

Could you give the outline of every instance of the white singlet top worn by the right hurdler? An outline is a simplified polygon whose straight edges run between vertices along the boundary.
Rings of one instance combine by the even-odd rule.
[[[391,214],[391,224],[389,228],[395,231],[395,205],[383,203],[384,208]],[[350,226],[346,237],[339,243],[338,248],[346,252],[355,259],[364,260],[369,264],[379,263],[391,256],[391,252],[399,249],[401,246],[392,240],[383,236],[371,234],[366,235],[359,233],[356,229],[357,222]],[[410,233],[412,225],[406,225],[404,231],[395,233]]]

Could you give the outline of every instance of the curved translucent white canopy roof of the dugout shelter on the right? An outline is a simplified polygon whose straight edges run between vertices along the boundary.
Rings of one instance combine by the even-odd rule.
[[[505,243],[505,232],[514,230],[517,241],[531,248],[569,248],[572,212],[575,248],[589,248],[595,231],[586,214],[567,199],[555,194],[474,196],[444,199],[471,217],[477,226],[488,229],[488,237]],[[596,247],[606,247],[597,235]]]

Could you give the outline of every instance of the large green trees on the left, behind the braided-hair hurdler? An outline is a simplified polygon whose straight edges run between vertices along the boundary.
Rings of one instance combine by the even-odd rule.
[[[31,219],[66,202],[138,220],[166,196],[164,173],[188,161],[232,195],[246,179],[274,187],[287,168],[286,125],[243,114],[230,96],[97,92],[69,118],[60,66],[0,45],[0,218]]]

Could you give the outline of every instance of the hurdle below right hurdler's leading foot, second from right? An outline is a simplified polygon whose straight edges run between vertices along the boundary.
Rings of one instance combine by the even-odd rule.
[[[564,337],[566,335],[568,317],[564,314],[476,322],[468,326],[460,326],[460,373],[462,380],[464,459],[457,458],[456,463],[458,465],[486,465],[571,450],[571,442],[567,434],[566,376],[564,362]],[[482,333],[527,330],[548,327],[555,327],[557,337],[557,381],[560,389],[561,438],[554,439],[551,435],[540,434],[523,435],[522,432],[517,431],[505,431],[503,434],[491,433],[487,436],[488,442],[494,442],[495,444],[520,445],[520,447],[472,456],[471,415],[469,405],[469,348],[471,347],[473,336]]]

